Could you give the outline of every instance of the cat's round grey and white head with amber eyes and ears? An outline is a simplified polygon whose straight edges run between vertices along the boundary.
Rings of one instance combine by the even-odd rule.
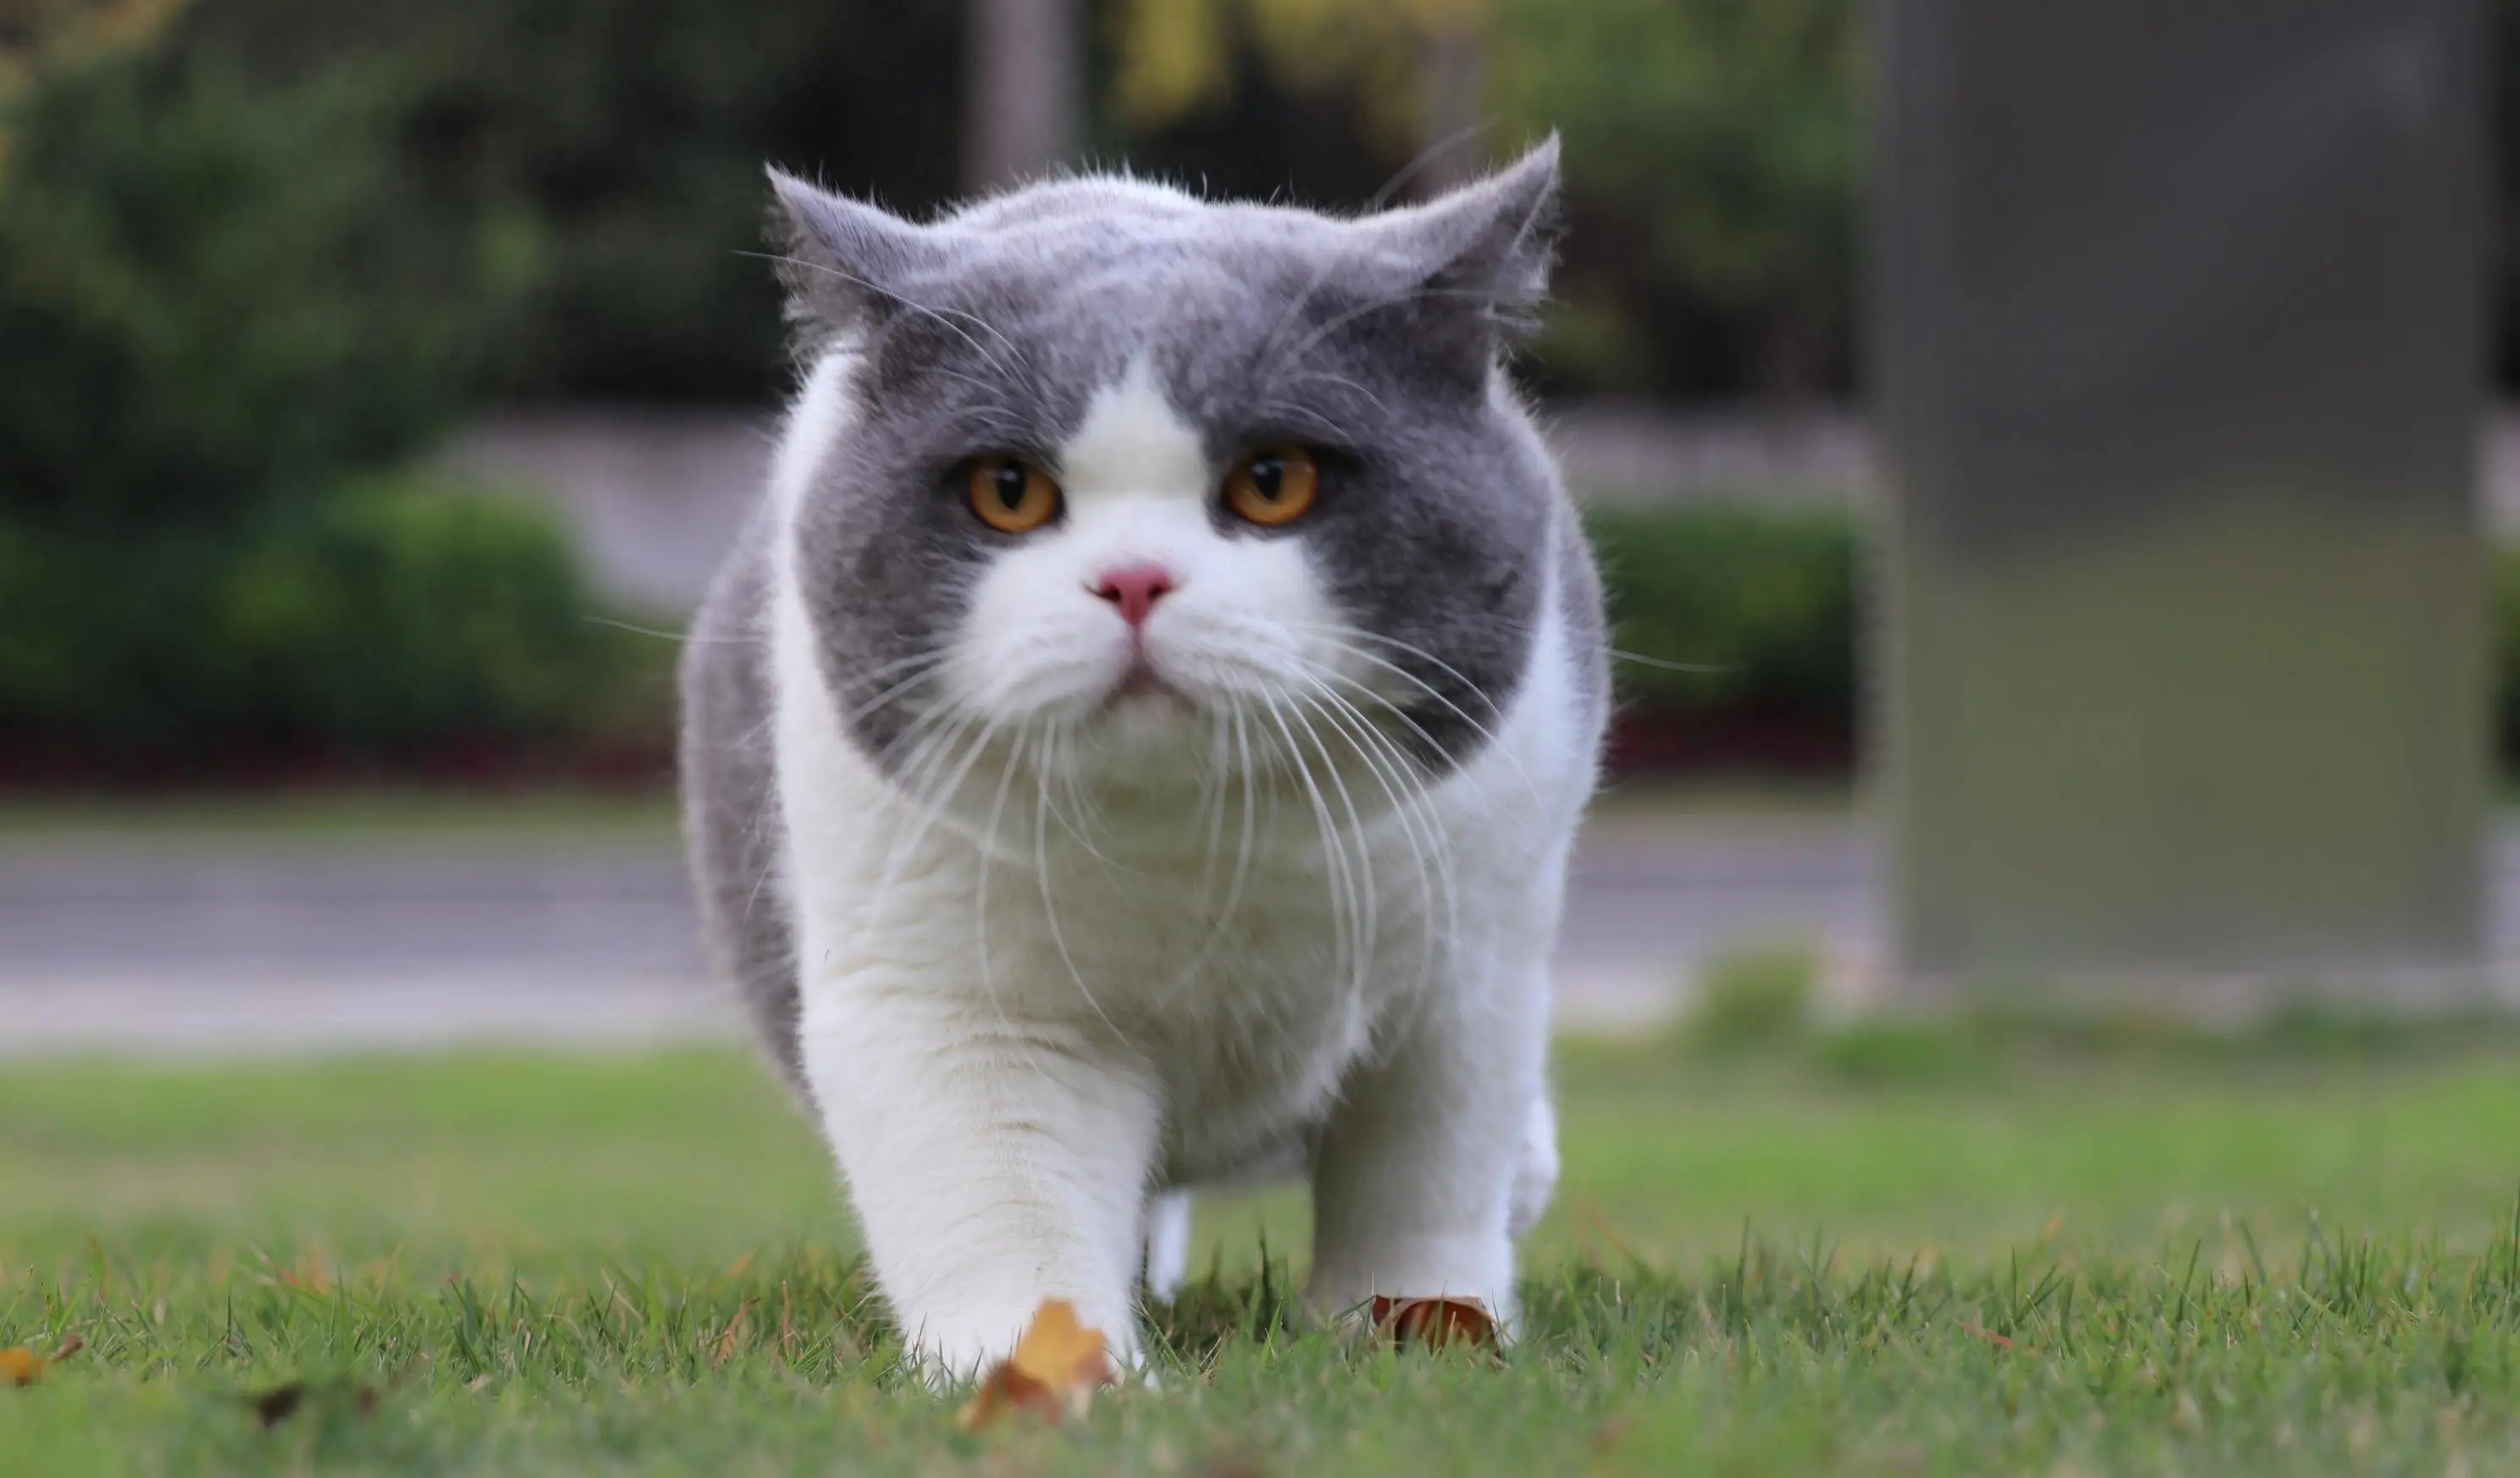
[[[1555,146],[1361,222],[1061,181],[915,227],[779,181],[847,423],[794,514],[852,738],[1096,783],[1477,750],[1555,481],[1499,373]]]

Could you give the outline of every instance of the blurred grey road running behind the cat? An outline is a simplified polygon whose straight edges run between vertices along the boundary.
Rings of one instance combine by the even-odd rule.
[[[1867,957],[1872,894],[1847,818],[1620,818],[1575,869],[1560,1015],[1661,1020],[1741,944]],[[0,1052],[728,1030],[668,836],[0,841]]]

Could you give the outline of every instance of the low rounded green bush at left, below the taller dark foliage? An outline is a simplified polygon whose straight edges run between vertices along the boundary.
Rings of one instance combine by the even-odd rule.
[[[0,728],[73,770],[564,740],[625,680],[567,536],[428,478],[214,534],[0,521]]]

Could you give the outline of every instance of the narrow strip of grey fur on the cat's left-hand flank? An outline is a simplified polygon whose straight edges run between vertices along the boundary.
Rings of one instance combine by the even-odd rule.
[[[771,506],[753,509],[683,642],[685,846],[708,962],[801,1093],[796,969],[779,889],[779,765],[771,690]]]

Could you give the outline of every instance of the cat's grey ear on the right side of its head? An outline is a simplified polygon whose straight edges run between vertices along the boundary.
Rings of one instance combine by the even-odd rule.
[[[1366,222],[1419,287],[1520,322],[1550,292],[1557,257],[1557,136],[1497,174]]]

